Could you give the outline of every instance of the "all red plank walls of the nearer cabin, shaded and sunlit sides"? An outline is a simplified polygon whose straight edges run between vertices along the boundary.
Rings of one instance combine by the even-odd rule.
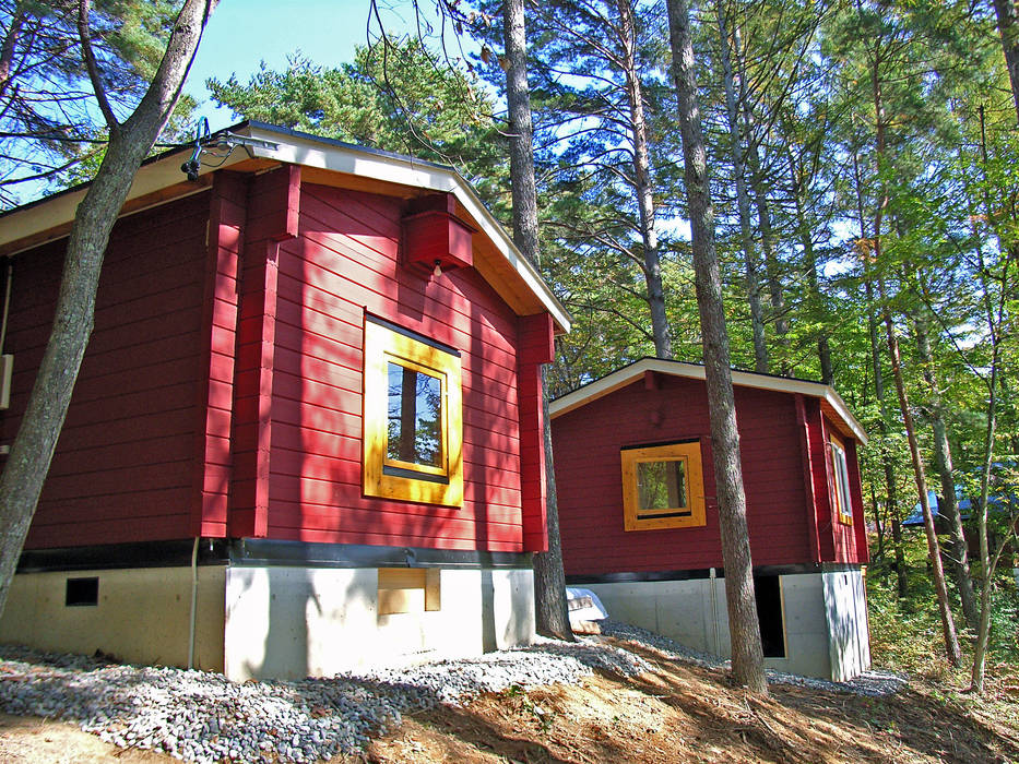
[[[203,535],[543,549],[537,363],[552,323],[516,315],[473,268],[405,267],[405,208],[283,167],[223,171],[208,192],[121,219],[28,548]],[[7,442],[64,243],[15,259]],[[461,351],[462,508],[362,494],[366,310]]]

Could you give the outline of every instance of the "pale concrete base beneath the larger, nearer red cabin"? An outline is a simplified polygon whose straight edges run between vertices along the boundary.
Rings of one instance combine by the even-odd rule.
[[[98,604],[64,604],[68,578],[96,576]],[[530,569],[442,570],[440,608],[378,613],[377,569],[200,566],[194,665],[229,679],[303,679],[531,644]],[[14,577],[0,642],[130,662],[187,666],[191,570]]]

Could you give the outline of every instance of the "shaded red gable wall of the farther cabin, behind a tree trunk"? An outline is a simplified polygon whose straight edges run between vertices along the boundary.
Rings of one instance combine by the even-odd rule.
[[[665,374],[653,379],[656,389],[638,380],[553,420],[567,574],[722,565],[704,383]],[[754,564],[811,562],[811,508],[795,396],[736,387],[735,397]],[[619,450],[689,438],[701,441],[707,525],[624,532]],[[827,534],[831,539],[830,528]]]

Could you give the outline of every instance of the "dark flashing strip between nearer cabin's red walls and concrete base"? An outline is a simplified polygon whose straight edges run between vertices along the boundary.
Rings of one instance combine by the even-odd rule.
[[[194,539],[27,549],[19,573],[182,568],[191,564]],[[309,544],[272,539],[210,539],[198,547],[199,565],[242,568],[459,568],[529,569],[531,552],[485,552],[359,544]]]

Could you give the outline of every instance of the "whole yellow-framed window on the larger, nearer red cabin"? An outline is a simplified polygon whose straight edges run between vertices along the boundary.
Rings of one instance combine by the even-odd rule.
[[[366,317],[365,496],[463,504],[460,354]]]

